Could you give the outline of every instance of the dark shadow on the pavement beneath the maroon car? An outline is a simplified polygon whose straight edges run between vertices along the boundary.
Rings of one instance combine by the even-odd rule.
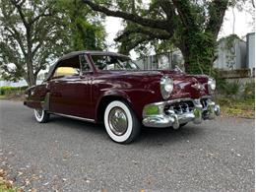
[[[98,142],[100,142],[102,138],[105,138],[106,140],[110,141],[105,132],[103,124],[90,123],[55,115],[51,116],[49,123],[59,125],[63,130],[75,129],[76,131],[79,131],[82,134],[83,132],[85,134],[92,134],[92,137],[95,137],[95,140],[98,140]],[[141,135],[133,144],[140,145],[147,143],[147,145],[149,145],[150,143],[152,143],[153,145],[164,145],[179,142],[181,140],[197,140],[200,137],[204,137],[204,135],[205,128],[203,124],[195,125],[193,123],[190,123],[178,130],[174,130],[172,128],[143,127]]]

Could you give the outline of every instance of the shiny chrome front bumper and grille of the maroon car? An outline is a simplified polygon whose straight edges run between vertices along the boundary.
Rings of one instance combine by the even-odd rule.
[[[220,115],[220,105],[212,101],[211,98],[207,98],[203,106],[201,99],[181,98],[148,104],[143,110],[143,124],[146,127],[173,127],[174,129],[178,129],[181,124],[191,121],[199,124],[202,120],[212,120]],[[173,109],[164,109],[166,104],[188,100],[193,102],[193,107],[190,110],[177,112]],[[151,112],[149,112],[150,107],[154,108],[151,109]]]

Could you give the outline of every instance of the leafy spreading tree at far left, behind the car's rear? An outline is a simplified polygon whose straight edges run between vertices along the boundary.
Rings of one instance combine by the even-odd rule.
[[[65,49],[61,31],[54,1],[1,0],[2,78],[11,81],[24,78],[29,85],[35,84],[38,72],[45,69],[49,59]]]

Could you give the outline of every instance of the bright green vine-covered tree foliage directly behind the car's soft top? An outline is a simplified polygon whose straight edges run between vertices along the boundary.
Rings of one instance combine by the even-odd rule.
[[[60,0],[57,7],[62,15],[69,51],[102,50],[105,48],[104,17],[96,15],[81,0]]]

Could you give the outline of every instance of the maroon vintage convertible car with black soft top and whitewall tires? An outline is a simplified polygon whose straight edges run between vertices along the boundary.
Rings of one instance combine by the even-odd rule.
[[[26,91],[25,105],[44,123],[50,114],[103,122],[109,137],[129,143],[145,127],[178,129],[220,114],[214,79],[173,71],[145,71],[127,56],[77,51],[61,57],[43,83]]]

